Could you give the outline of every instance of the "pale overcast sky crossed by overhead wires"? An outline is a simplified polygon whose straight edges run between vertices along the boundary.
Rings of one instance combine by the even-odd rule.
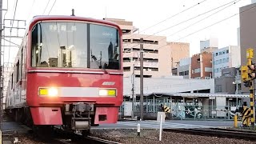
[[[18,2],[14,14],[16,1]],[[134,22],[140,34],[161,35],[166,36],[169,42],[190,43],[190,56],[200,52],[200,41],[211,37],[218,38],[219,48],[238,45],[239,7],[251,3],[250,0],[2,0],[2,2],[2,8],[6,9],[3,11],[3,18],[25,20],[26,26],[35,15],[70,15],[72,9],[76,16],[81,17],[126,19]],[[222,7],[214,10],[219,6]],[[210,12],[206,13],[207,11]],[[229,18],[233,15],[234,17]],[[223,19],[226,20],[219,22]],[[217,22],[219,23],[215,24]],[[16,25],[17,23],[13,24]],[[5,26],[11,26],[10,21],[5,21]],[[19,26],[26,27],[25,24]],[[5,34],[10,35],[10,30],[6,29]],[[17,30],[13,29],[12,34],[17,34]],[[24,30],[18,30],[18,35],[23,36],[23,34]],[[16,44],[21,42],[17,38],[7,38],[7,40]],[[2,43],[7,46],[13,45],[7,41]],[[4,47],[4,61],[13,62],[18,48],[7,46]]]

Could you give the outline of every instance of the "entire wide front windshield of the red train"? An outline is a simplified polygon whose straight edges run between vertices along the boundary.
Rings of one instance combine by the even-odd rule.
[[[120,70],[118,30],[83,22],[41,22],[32,29],[31,66]]]

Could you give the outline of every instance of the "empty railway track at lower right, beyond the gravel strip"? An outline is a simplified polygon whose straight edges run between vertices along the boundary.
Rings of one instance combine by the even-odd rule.
[[[249,131],[249,130],[210,128],[210,129],[164,129],[164,131],[182,133],[182,134],[203,135],[203,136],[218,137],[218,138],[236,138],[236,139],[256,141],[256,132]]]

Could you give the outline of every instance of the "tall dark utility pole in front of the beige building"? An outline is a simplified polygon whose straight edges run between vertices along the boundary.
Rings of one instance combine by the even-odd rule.
[[[140,92],[141,92],[141,120],[143,121],[143,38],[140,39]]]

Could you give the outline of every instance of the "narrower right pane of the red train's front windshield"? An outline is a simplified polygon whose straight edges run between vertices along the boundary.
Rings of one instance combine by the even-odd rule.
[[[120,44],[117,29],[90,25],[90,68],[120,69]]]

